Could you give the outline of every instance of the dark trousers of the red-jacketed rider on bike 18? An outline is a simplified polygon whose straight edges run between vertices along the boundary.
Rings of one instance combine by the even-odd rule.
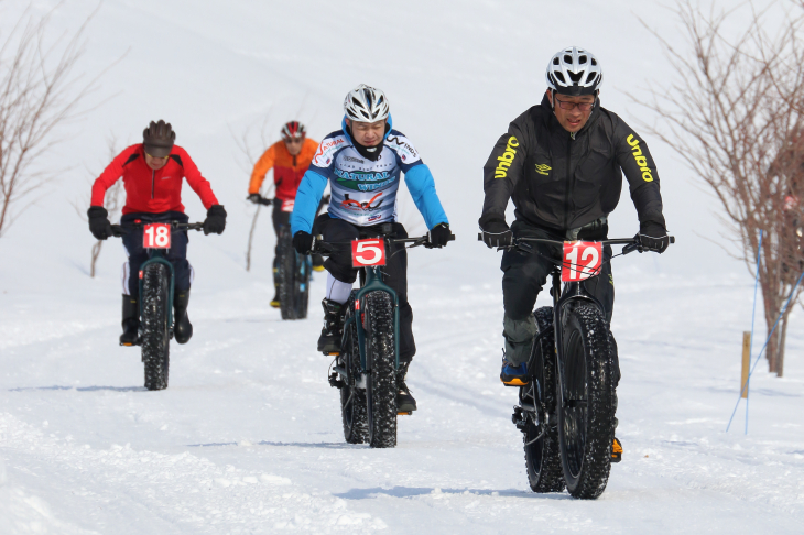
[[[120,218],[120,225],[128,227],[129,233],[123,236],[123,247],[129,255],[128,287],[129,295],[140,295],[140,268],[150,258],[148,250],[142,247],[143,230],[132,228],[134,221],[187,222],[189,218],[181,211],[165,211],[162,214],[127,214]],[[187,262],[187,237],[186,230],[173,230],[171,232],[171,248],[166,251],[166,258],[173,264],[173,276],[176,292],[189,290],[192,268]]]

